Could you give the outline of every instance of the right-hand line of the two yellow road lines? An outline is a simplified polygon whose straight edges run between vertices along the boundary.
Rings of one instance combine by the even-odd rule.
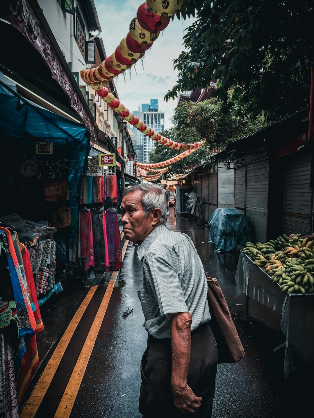
[[[128,243],[129,241],[126,241],[124,243],[124,246],[122,249],[122,260],[124,258]],[[80,352],[80,356],[77,360],[77,363],[75,364],[74,370],[67,384],[65,392],[62,396],[61,402],[59,403],[59,406],[58,406],[56,414],[54,415],[54,418],[68,418],[72,412],[72,408],[73,408],[75,399],[77,397],[77,392],[82,383],[82,379],[83,379],[86,367],[88,365],[90,355],[92,354],[95,341],[100,330],[100,326],[106,314],[106,310],[107,310],[107,307],[111,298],[113,287],[114,287],[114,284],[116,282],[118,275],[119,275],[118,271],[114,271],[111,275],[111,279],[108,283],[106,293],[103,296],[103,300],[100,303],[98,312],[93,321],[93,325],[90,328],[90,331],[85,340],[84,346],[82,348],[82,351]]]

